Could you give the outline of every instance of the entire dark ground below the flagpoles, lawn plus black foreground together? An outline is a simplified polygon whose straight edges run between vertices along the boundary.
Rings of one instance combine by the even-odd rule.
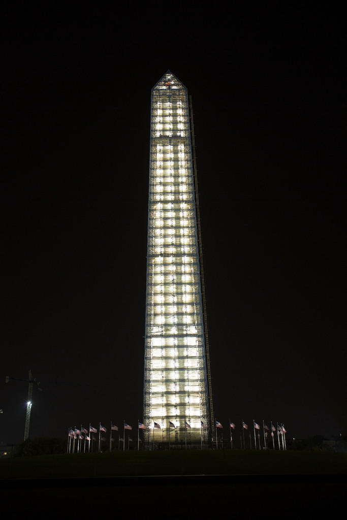
[[[21,457],[0,461],[1,497],[6,518],[331,517],[344,506],[346,467],[346,454],[333,452]]]

